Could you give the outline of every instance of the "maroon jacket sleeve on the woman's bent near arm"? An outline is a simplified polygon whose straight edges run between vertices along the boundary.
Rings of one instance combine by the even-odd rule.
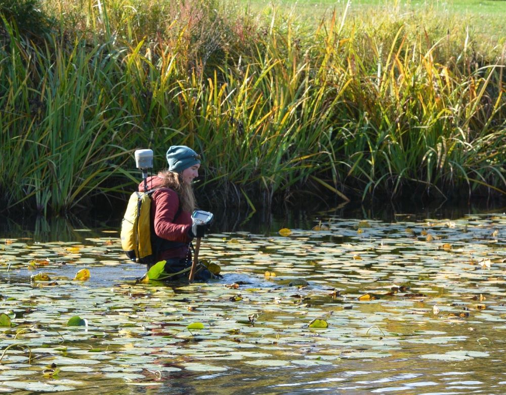
[[[151,209],[154,211],[154,231],[162,239],[190,242],[188,230],[191,224],[174,222],[179,208],[179,196],[171,189],[162,189],[153,193]]]

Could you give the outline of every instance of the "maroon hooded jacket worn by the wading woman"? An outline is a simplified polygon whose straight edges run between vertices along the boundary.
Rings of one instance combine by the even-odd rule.
[[[191,259],[189,245],[192,239],[188,236],[192,226],[191,212],[179,210],[178,194],[163,187],[163,180],[158,176],[148,177],[147,186],[148,190],[160,188],[151,194],[151,220],[155,234],[161,239],[182,243],[175,248],[162,248],[158,251],[157,260],[184,258],[188,255]],[[144,181],[139,184],[139,192],[145,192]]]

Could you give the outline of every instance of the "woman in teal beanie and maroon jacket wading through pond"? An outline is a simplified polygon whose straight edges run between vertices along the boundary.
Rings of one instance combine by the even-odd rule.
[[[186,146],[172,146],[167,150],[168,169],[147,179],[148,190],[155,189],[151,194],[151,240],[156,251],[156,259],[148,265],[148,270],[156,262],[166,260],[164,272],[173,274],[191,266],[191,241],[194,237],[202,237],[205,225],[192,226],[191,214],[195,209],[195,195],[192,182],[198,177],[200,156]],[[145,192],[144,182],[139,191]],[[170,279],[188,277],[188,272]],[[211,277],[207,270],[197,272],[195,279],[203,280]]]

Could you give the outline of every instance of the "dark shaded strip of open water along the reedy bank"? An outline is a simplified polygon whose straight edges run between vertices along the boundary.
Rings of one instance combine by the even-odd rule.
[[[402,220],[424,220],[426,218],[454,220],[465,215],[503,212],[506,202],[489,202],[486,199],[468,202],[420,202],[375,201],[364,205],[350,202],[336,207],[328,207],[307,201],[302,205],[281,206],[273,209],[251,211],[237,208],[201,207],[215,214],[212,233],[247,232],[269,236],[281,228],[311,229],[329,217],[355,218],[360,220],[380,220],[394,223]],[[88,212],[66,216],[6,216],[0,222],[0,237],[30,238],[37,242],[82,241],[90,237],[104,236],[104,231],[118,231],[121,225],[122,207],[116,211]],[[111,237],[113,233],[110,233]]]

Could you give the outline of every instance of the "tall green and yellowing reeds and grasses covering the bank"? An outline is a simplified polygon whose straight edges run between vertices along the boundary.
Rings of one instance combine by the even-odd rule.
[[[3,210],[126,204],[181,144],[214,204],[504,198],[503,24],[392,3],[2,0]]]

